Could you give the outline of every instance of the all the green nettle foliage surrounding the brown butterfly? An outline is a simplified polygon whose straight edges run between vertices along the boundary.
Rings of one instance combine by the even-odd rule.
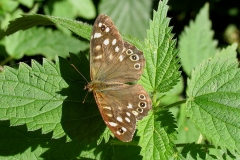
[[[236,6],[0,0],[0,159],[240,158]],[[91,96],[82,104],[86,82],[71,66],[89,80],[100,13],[146,58],[139,83],[154,106],[129,143],[112,137]]]

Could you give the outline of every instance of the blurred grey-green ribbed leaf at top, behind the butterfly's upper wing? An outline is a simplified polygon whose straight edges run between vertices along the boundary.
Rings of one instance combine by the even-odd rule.
[[[102,0],[99,12],[110,16],[122,34],[143,39],[146,37],[151,5],[152,2],[146,0],[138,0],[138,3],[135,0]]]

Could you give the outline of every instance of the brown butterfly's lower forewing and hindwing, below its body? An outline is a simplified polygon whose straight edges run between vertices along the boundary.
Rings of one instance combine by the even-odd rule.
[[[104,122],[124,142],[132,140],[136,121],[146,116],[152,106],[148,93],[139,84],[94,92],[94,96]]]

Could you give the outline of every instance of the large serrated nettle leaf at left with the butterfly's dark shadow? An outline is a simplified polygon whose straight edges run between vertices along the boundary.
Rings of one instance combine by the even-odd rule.
[[[86,57],[82,58],[75,66],[81,71],[89,66],[83,66],[86,62]],[[91,96],[82,103],[85,84],[61,57],[56,64],[44,59],[42,65],[32,61],[31,67],[25,63],[19,69],[5,67],[0,74],[0,120],[10,120],[12,126],[26,124],[30,131],[53,132],[53,138],[67,135],[79,142],[97,140],[106,125],[96,104],[89,100]]]

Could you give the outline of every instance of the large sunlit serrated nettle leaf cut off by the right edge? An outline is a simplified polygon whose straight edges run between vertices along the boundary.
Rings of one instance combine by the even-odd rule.
[[[240,151],[238,62],[213,60],[196,67],[188,81],[187,114],[215,146]]]

